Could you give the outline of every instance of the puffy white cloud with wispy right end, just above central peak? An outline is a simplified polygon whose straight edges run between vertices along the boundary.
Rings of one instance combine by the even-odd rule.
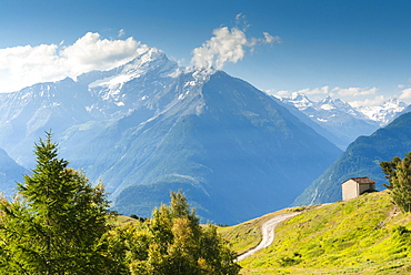
[[[241,13],[237,20],[241,19]],[[264,38],[247,38],[245,31],[238,28],[222,27],[213,31],[213,37],[201,47],[192,51],[191,64],[196,69],[208,71],[221,70],[227,62],[235,63],[243,59],[247,51],[253,52],[258,44],[280,43],[279,37],[273,37],[268,32]]]

